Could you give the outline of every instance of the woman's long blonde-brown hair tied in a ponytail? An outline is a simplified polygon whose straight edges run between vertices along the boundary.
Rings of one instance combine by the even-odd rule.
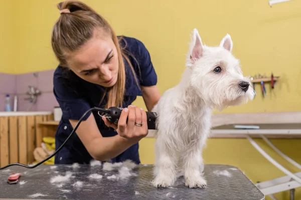
[[[106,92],[108,93],[106,108],[110,106],[121,106],[125,90],[125,67],[122,56],[130,65],[135,74],[133,66],[125,54],[127,52],[119,45],[116,36],[110,24],[91,7],[77,0],[67,0],[58,3],[57,7],[61,11],[61,16],[56,21],[52,30],[52,48],[61,66],[67,67],[67,54],[80,48],[85,42],[93,37],[95,29],[101,29],[108,33],[117,48],[119,67],[117,82],[110,88],[106,88],[101,101]],[[123,39],[120,37],[120,40]],[[130,55],[130,53],[127,52]],[[135,75],[134,75],[135,76]],[[135,76],[136,79],[136,76]],[[139,86],[136,79],[136,84]]]

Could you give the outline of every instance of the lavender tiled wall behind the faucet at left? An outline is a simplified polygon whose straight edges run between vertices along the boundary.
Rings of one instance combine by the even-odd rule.
[[[53,72],[54,69],[16,75],[0,73],[0,111],[5,110],[7,93],[11,94],[12,106],[14,95],[18,96],[17,111],[53,111],[54,106],[58,106],[53,94]],[[29,97],[26,94],[29,85],[41,91],[35,104],[25,99]]]

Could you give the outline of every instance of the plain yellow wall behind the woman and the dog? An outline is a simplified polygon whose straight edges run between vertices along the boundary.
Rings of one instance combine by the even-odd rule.
[[[257,96],[246,105],[227,108],[223,112],[270,112],[301,110],[301,1],[268,6],[268,0],[83,0],[105,16],[118,34],[136,37],[148,48],[161,92],[181,78],[190,32],[198,28],[207,45],[218,45],[226,33],[234,42],[233,53],[241,60],[245,75],[255,73],[280,75],[273,90],[266,85],[262,98]],[[50,35],[59,17],[58,0],[3,0],[4,32],[0,72],[24,73],[53,69]],[[14,18],[11,8],[14,7]],[[9,20],[11,19],[11,23]],[[12,37],[11,35],[14,35]],[[7,38],[7,39],[6,39]],[[12,45],[12,47],[11,47]],[[8,54],[12,52],[12,54]],[[13,61],[12,61],[13,60]],[[11,62],[10,62],[11,61]],[[143,106],[141,98],[136,104]],[[277,147],[301,162],[300,140],[272,140]],[[265,147],[261,141],[261,145]],[[143,163],[154,163],[154,139],[144,138],[140,144]],[[270,150],[269,150],[270,151]],[[232,164],[240,167],[252,181],[282,176],[246,139],[209,139],[204,151],[206,163]],[[278,157],[277,157],[278,158]],[[281,163],[283,160],[280,159]],[[290,165],[289,169],[296,170]],[[288,192],[278,194],[287,199]],[[285,198],[284,198],[285,197]],[[300,191],[296,191],[301,198]]]

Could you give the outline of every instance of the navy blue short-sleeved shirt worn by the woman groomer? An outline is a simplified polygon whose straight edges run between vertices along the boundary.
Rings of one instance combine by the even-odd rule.
[[[136,59],[135,60],[132,56],[128,56],[134,67],[135,74],[132,73],[128,63],[126,61],[124,62],[126,80],[123,107],[127,107],[136,99],[136,96],[142,95],[140,88],[135,82],[134,75],[138,78],[141,86],[151,86],[157,84],[157,74],[144,44],[132,37],[123,36],[123,38],[124,40],[120,40],[120,46],[126,46],[126,51],[132,54]],[[56,148],[59,148],[73,130],[69,119],[79,120],[89,108],[94,106],[103,107],[106,103],[106,97],[100,103],[105,88],[101,85],[83,80],[66,67],[58,66],[56,68],[53,83],[54,95],[63,112],[62,119],[55,134]],[[94,115],[99,131],[103,137],[117,134],[113,128],[109,128],[104,124],[97,111],[90,112],[83,120],[91,113]],[[86,134],[89,134],[89,132]],[[74,133],[66,142],[65,146],[56,154],[55,164],[72,164],[75,162],[89,163],[91,159],[93,159],[92,156],[77,134]],[[133,160],[137,164],[140,163],[138,143],[130,146],[120,155],[112,158],[111,162],[121,162],[126,159]]]

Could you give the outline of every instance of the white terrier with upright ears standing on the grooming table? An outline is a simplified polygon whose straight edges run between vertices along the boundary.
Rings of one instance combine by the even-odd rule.
[[[168,187],[184,175],[188,187],[205,187],[202,150],[211,128],[211,113],[253,99],[227,34],[219,46],[203,45],[193,30],[186,68],[178,85],[162,95],[157,112],[156,164],[153,185]],[[215,69],[220,67],[221,71]],[[214,71],[215,70],[215,71]],[[239,85],[248,82],[246,91]]]

